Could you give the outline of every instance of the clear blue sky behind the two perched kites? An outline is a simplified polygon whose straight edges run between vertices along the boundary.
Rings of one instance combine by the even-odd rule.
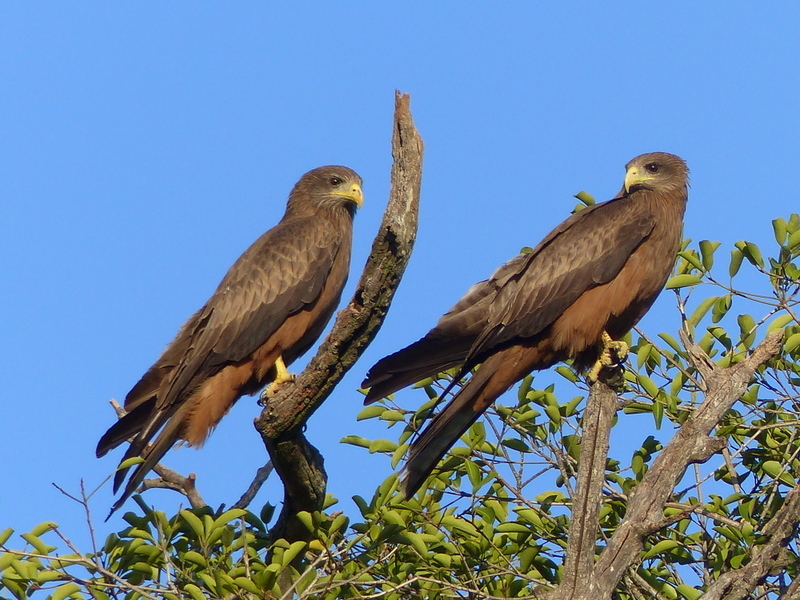
[[[364,178],[349,298],[387,199],[396,88],[427,148],[416,250],[379,337],[308,427],[351,514],[390,466],[339,439],[395,435],[355,422],[367,368],[534,245],[574,193],[607,199],[630,158],[673,152],[692,169],[688,236],[770,240],[769,221],[798,210],[800,5],[756,6],[0,4],[0,529],[54,520],[85,540],[51,482],[113,471],[118,452],[94,457],[108,399],[323,164]],[[645,329],[674,327],[659,316],[672,306]],[[243,399],[203,450],[166,462],[234,502],[266,459],[257,414]],[[281,498],[275,479],[259,502]],[[101,536],[121,527],[100,523],[111,501],[107,485],[92,504]]]

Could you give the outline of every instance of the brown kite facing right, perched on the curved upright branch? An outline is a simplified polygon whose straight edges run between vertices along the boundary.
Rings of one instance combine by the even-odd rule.
[[[128,393],[127,414],[97,444],[101,457],[133,438],[123,461],[144,459],[112,513],[177,441],[202,446],[239,398],[293,378],[286,366],[317,340],[339,303],[362,202],[361,177],[347,167],[320,167],[300,178],[281,221],[184,323]],[[115,492],[127,471],[117,471]]]

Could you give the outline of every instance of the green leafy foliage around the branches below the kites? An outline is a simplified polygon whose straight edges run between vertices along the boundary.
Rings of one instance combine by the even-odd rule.
[[[743,361],[771,331],[783,331],[783,352],[758,369],[718,423],[720,450],[686,471],[615,598],[694,599],[713,591],[725,574],[754,560],[797,485],[800,217],[776,219],[773,229],[774,256],[748,241],[737,242],[722,267],[719,243],[687,240],[680,252],[667,287],[689,339],[719,367]],[[701,373],[678,338],[637,331],[629,340],[598,554],[655,458],[704,401]],[[71,547],[53,523],[19,538],[0,532],[0,596],[537,597],[564,574],[589,391],[569,365],[555,373],[526,377],[516,394],[504,396],[414,498],[402,499],[392,475],[369,500],[355,498],[360,514],[352,523],[331,512],[333,499],[325,512],[298,515],[310,541],[271,540],[269,515],[244,509],[183,510],[168,518],[139,500],[140,511],[124,517],[129,527],[88,553]],[[399,466],[452,376],[420,382],[426,401],[417,409],[388,399],[361,412],[359,419],[384,421],[393,439],[344,441]],[[24,545],[14,549],[17,539]],[[800,581],[799,553],[796,537],[783,543],[752,597],[778,598]]]

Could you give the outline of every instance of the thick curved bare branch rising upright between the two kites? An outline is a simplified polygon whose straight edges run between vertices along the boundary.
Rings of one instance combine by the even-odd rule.
[[[322,509],[327,482],[322,456],[301,428],[377,335],[411,256],[423,144],[409,103],[408,95],[395,94],[389,205],[355,294],[305,371],[269,398],[256,419],[256,429],[285,488],[283,510],[272,531],[276,538],[306,539],[308,532],[294,516]]]

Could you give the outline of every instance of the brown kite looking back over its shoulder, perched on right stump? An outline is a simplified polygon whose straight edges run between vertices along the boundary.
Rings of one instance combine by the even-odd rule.
[[[627,353],[613,340],[642,318],[669,277],[689,183],[686,163],[672,154],[643,154],[626,169],[612,200],[569,217],[533,251],[474,285],[425,337],[370,369],[362,384],[371,388],[367,404],[460,367],[447,393],[479,365],[411,445],[406,497],[492,402],[531,371],[574,359],[581,370],[594,363],[594,379],[604,363],[614,362],[612,352]]]

